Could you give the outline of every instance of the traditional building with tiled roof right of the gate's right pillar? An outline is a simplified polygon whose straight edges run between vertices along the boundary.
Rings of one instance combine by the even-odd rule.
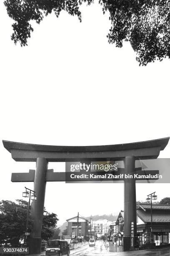
[[[137,233],[140,237],[140,244],[151,242],[151,229],[153,242],[170,243],[170,205],[151,205],[141,203],[137,207]]]

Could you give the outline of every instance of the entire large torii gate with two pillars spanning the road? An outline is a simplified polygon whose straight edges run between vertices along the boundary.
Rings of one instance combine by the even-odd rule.
[[[36,162],[36,170],[29,173],[12,173],[12,182],[34,182],[37,200],[32,202],[31,215],[34,220],[30,234],[30,253],[40,253],[42,218],[46,182],[65,181],[65,172],[48,170],[48,162],[92,162],[120,161],[125,164],[124,174],[135,172],[135,160],[156,159],[169,141],[161,138],[151,141],[106,145],[106,146],[47,146],[28,143],[3,141],[4,147],[15,161]],[[137,235],[136,225],[136,188],[135,179],[124,180],[124,237],[123,249],[130,250],[131,223],[133,236]]]

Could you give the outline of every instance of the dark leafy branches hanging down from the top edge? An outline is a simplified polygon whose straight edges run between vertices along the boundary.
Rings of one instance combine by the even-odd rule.
[[[40,23],[54,12],[62,11],[82,21],[80,5],[94,0],[5,0],[7,14],[14,20],[11,39],[21,46],[28,44],[33,32],[31,20]],[[109,13],[111,27],[108,42],[122,47],[128,41],[136,60],[146,66],[155,60],[170,58],[170,0],[99,0],[103,14]],[[94,13],[95,18],[95,13]]]

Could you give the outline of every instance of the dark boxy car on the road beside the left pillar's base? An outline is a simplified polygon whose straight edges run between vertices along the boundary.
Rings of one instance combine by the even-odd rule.
[[[45,255],[64,256],[70,255],[70,248],[65,240],[49,240],[47,241],[47,248]]]

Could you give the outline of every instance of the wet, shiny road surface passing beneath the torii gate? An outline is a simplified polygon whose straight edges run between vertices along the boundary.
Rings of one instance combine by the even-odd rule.
[[[155,249],[155,250],[141,250],[123,252],[122,247],[113,246],[105,247],[102,241],[96,241],[95,246],[88,245],[70,251],[71,256],[170,256],[170,248]]]

